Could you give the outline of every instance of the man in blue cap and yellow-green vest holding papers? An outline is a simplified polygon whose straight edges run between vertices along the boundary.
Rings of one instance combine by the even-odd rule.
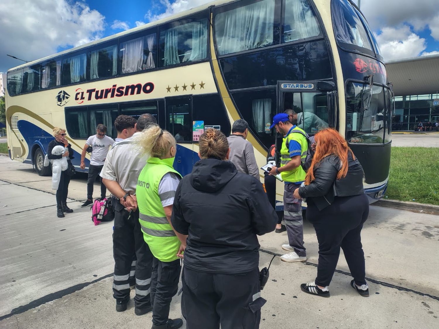
[[[284,222],[287,228],[288,244],[283,244],[282,249],[288,251],[281,256],[282,261],[306,261],[306,249],[303,246],[303,218],[302,200],[295,199],[293,192],[305,180],[306,172],[301,163],[305,161],[308,151],[306,132],[292,125],[288,114],[279,113],[273,118],[270,129],[284,136],[281,146],[281,166],[271,167],[270,175],[281,174],[285,182],[284,187]]]

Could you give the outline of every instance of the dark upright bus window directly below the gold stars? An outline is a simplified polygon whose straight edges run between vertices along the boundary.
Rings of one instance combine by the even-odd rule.
[[[177,142],[192,141],[191,97],[166,98],[166,129]]]

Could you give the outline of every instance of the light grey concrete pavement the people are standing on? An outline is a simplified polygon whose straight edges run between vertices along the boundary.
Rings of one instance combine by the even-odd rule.
[[[85,178],[72,180],[68,202],[75,212],[62,219],[50,179],[0,157],[0,328],[149,328],[151,314],[134,315],[132,302],[115,311],[112,222],[94,226],[88,208],[80,208]],[[349,286],[342,254],[331,297],[311,296],[299,287],[315,278],[318,257],[315,232],[305,222],[308,262],[275,257],[260,328],[438,328],[439,216],[372,206],[362,238],[371,296]],[[287,237],[273,232],[259,241],[262,267],[282,254]],[[180,316],[180,297],[170,316]]]

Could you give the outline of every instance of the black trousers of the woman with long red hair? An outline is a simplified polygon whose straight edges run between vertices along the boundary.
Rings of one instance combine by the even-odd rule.
[[[369,215],[369,200],[366,194],[335,197],[334,202],[322,211],[319,211],[312,201],[307,203],[306,218],[313,224],[319,242],[316,284],[329,286],[331,283],[340,247],[355,283],[366,284],[361,244],[361,229]]]

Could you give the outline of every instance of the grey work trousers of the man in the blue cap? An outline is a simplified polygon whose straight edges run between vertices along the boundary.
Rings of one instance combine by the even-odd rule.
[[[287,228],[288,243],[300,257],[306,257],[303,242],[302,200],[295,199],[293,193],[300,185],[285,184],[284,187],[284,223]]]

